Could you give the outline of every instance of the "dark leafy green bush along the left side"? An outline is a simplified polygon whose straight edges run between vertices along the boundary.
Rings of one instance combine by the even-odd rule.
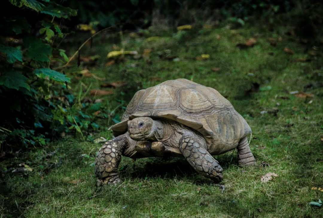
[[[0,9],[1,146],[41,145],[63,132],[98,127],[70,94],[70,78],[51,69],[68,61],[58,48],[66,36],[61,24],[77,14],[60,2],[9,0]]]

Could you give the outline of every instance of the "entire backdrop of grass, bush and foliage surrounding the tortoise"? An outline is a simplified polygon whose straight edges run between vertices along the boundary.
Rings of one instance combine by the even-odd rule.
[[[5,0],[0,217],[323,217],[320,1]],[[225,191],[183,158],[94,157],[133,94],[186,78],[226,97],[259,165],[216,156]],[[266,173],[277,176],[262,181]]]

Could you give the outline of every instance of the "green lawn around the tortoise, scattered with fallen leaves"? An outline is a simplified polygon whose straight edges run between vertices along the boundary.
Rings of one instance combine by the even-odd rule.
[[[238,167],[236,150],[215,156],[224,168],[221,184],[225,191],[221,193],[182,158],[133,162],[123,157],[122,182],[97,189],[93,168],[100,144],[67,135],[29,152],[9,152],[0,162],[1,170],[21,163],[33,169],[25,175],[3,173],[0,217],[323,217],[323,207],[309,205],[323,199],[322,192],[311,190],[323,187],[323,88],[317,85],[322,84],[322,50],[308,54],[315,44],[310,40],[299,43],[296,35],[287,35],[292,27],[285,24],[275,26],[274,31],[261,22],[236,29],[228,25],[181,33],[125,33],[122,44],[118,35],[95,38],[93,48],[83,51],[84,55],[101,56],[95,66],[88,66],[90,72],[108,82],[128,84],[111,95],[88,97],[102,99],[110,111],[116,108],[111,112],[113,117],[122,115],[122,106],[137,90],[165,80],[187,78],[211,86],[234,105],[253,130],[250,147],[258,167]],[[160,37],[146,41],[152,36]],[[254,46],[236,46],[251,37],[256,40]],[[277,45],[270,45],[268,37],[275,38]],[[81,43],[73,40],[71,51]],[[126,56],[106,66],[106,54],[113,44],[139,54],[151,49],[150,56],[138,60]],[[294,54],[284,52],[285,47]],[[210,58],[197,60],[201,54]],[[82,93],[89,85],[100,89],[102,81],[77,77],[84,66],[75,65],[67,72],[75,93],[81,86]],[[289,94],[291,91],[305,92],[307,97]],[[125,103],[120,106],[120,102]],[[101,128],[92,137],[111,138],[108,128],[112,119],[96,122]],[[279,177],[261,183],[261,176],[268,172]]]

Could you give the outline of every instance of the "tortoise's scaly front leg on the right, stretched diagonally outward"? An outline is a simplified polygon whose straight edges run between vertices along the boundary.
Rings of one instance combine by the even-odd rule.
[[[203,176],[212,179],[214,182],[221,182],[223,179],[222,167],[212,155],[203,148],[192,136],[186,135],[180,141],[180,150],[188,163]]]

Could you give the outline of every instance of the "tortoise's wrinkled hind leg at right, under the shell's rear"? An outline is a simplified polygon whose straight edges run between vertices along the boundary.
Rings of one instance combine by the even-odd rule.
[[[251,153],[247,136],[240,140],[237,149],[239,166],[256,165],[255,157]]]

